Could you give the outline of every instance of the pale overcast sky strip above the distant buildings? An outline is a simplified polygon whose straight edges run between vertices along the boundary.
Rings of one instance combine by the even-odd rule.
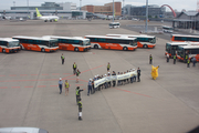
[[[15,1],[17,7],[28,6],[41,6],[44,2],[73,2],[76,6],[80,6],[80,0],[0,0],[0,10],[10,9],[13,7],[13,1]],[[123,1],[123,0],[115,0]],[[93,4],[93,6],[103,6],[104,3],[113,2],[113,0],[82,0],[82,6]],[[182,9],[196,10],[197,9],[197,0],[148,0],[149,4],[169,4],[174,10],[177,9],[181,11]],[[125,0],[125,4],[132,6],[144,6],[146,4],[146,0]],[[167,10],[169,10],[167,8]]]

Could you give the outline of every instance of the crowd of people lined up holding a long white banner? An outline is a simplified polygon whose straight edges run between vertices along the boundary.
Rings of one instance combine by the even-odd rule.
[[[116,73],[115,71],[113,71],[112,73],[109,72],[109,69],[111,69],[111,64],[108,62],[107,64],[107,74],[104,74],[104,75],[95,75],[93,79],[90,79],[88,81],[88,84],[87,84],[87,95],[90,94],[94,94],[96,91],[101,91],[102,89],[108,89],[111,86],[115,86],[116,85],[116,80],[113,80],[113,81],[107,81],[101,85],[98,85],[97,88],[94,86],[94,81],[97,81],[100,79],[103,79],[103,78],[106,78],[106,76],[111,76],[111,75],[122,75],[122,74],[126,74],[128,72],[133,72],[135,71],[135,69],[130,69],[130,70],[127,70],[125,72],[118,72]],[[118,85],[125,85],[125,84],[128,84],[128,83],[133,83],[133,82],[136,82],[136,78],[137,78],[137,82],[140,82],[140,69],[138,68],[137,69],[137,75],[132,75],[129,79],[124,79],[124,80],[117,80],[117,86]]]

